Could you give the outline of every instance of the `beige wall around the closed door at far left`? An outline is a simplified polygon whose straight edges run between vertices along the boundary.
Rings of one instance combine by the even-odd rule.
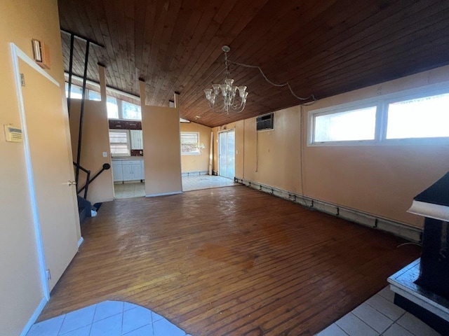
[[[62,85],[63,99],[64,75],[57,1],[4,0],[0,2],[0,13],[0,125],[3,127],[13,123],[20,126],[9,43],[15,43],[29,56],[32,56],[32,38],[41,38],[48,44],[52,63],[48,73]],[[44,129],[45,120],[42,123]],[[19,335],[41,302],[43,293],[24,146],[6,143],[3,131],[0,134],[0,161],[0,335]]]

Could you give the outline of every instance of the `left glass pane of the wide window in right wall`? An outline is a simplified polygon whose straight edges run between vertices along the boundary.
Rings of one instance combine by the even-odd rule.
[[[314,116],[314,142],[374,140],[376,106]]]

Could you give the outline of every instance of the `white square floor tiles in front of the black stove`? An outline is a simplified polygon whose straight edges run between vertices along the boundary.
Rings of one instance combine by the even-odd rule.
[[[317,336],[438,336],[429,325],[393,303],[386,287]]]

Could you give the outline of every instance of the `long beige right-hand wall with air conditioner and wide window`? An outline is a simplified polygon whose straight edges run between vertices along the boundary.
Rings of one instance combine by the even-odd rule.
[[[307,113],[445,80],[448,66],[322,99],[303,109],[276,111],[270,131],[256,132],[255,118],[225,125],[236,128],[236,176],[294,193],[303,190],[309,197],[422,227],[422,218],[406,210],[417,193],[448,171],[449,145],[307,146]],[[214,170],[216,154],[214,148]]]

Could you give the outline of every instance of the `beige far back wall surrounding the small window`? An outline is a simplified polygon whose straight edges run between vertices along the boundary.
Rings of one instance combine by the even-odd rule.
[[[199,141],[204,144],[200,155],[181,155],[182,173],[208,172],[209,149],[210,149],[210,127],[197,123],[180,123],[181,132],[199,132]]]

